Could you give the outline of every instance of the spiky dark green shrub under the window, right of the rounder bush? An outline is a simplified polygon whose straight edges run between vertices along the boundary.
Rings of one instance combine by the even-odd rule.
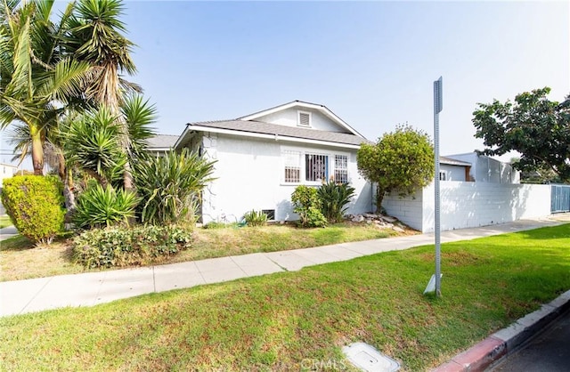
[[[342,221],[343,214],[347,209],[346,204],[354,196],[354,187],[349,186],[348,183],[330,181],[322,184],[317,195],[321,201],[321,211],[325,218],[331,223],[339,222]]]

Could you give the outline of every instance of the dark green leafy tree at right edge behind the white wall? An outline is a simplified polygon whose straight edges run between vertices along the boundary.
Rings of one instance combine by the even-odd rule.
[[[515,101],[478,103],[473,112],[476,138],[484,139],[486,155],[518,151],[515,166],[523,172],[550,168],[570,182],[570,95],[549,101],[549,87],[520,93]]]

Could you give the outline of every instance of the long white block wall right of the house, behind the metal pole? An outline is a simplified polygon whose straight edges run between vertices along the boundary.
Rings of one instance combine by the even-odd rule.
[[[465,229],[550,214],[550,185],[441,182],[442,230]],[[413,197],[387,195],[387,214],[422,232],[434,230],[434,185]]]

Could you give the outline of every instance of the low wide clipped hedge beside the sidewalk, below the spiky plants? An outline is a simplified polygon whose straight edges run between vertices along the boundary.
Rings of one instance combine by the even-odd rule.
[[[191,231],[169,226],[89,230],[72,240],[73,259],[85,267],[159,263],[191,247]]]

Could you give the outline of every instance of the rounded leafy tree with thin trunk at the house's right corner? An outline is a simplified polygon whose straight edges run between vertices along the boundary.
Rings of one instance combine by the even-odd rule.
[[[398,125],[378,143],[363,143],[356,154],[358,171],[377,184],[376,212],[380,212],[387,192],[411,195],[434,178],[434,148],[427,133],[410,125]]]

